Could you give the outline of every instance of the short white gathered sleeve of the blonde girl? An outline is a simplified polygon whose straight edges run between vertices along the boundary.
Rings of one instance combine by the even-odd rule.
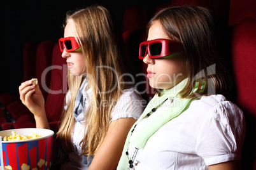
[[[111,121],[126,117],[139,119],[145,105],[146,101],[143,100],[141,95],[136,93],[134,88],[125,89],[124,93],[122,96],[120,96],[117,104],[113,108],[113,112],[111,113]]]

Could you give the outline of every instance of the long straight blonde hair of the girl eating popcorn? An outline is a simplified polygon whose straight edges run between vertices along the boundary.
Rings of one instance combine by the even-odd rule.
[[[86,62],[87,80],[92,88],[90,105],[85,115],[87,131],[80,143],[83,155],[90,156],[97,152],[103,142],[110,124],[112,108],[122,95],[122,89],[127,88],[121,83],[124,82],[124,77],[121,76],[124,73],[124,42],[122,34],[118,34],[120,30],[117,23],[103,6],[90,6],[71,15],[67,14],[66,23],[69,20],[73,21],[78,39],[83,43],[82,53]],[[64,110],[62,124],[57,133],[61,136],[62,146],[66,152],[71,145],[75,126],[73,110],[76,93],[83,79],[82,76],[68,74],[72,97],[68,109]]]

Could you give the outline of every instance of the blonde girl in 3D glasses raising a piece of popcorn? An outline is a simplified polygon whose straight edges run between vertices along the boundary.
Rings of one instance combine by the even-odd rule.
[[[63,148],[60,169],[116,169],[127,133],[143,112],[141,96],[122,76],[124,50],[118,32],[103,6],[67,15],[59,39],[69,86],[57,133]],[[36,128],[49,129],[45,101],[38,85],[31,84],[20,85],[20,99],[34,114]]]

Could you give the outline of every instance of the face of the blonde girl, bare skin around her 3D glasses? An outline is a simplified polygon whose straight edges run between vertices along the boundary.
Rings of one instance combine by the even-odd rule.
[[[75,34],[75,26],[73,20],[69,20],[64,30],[64,37],[77,37]],[[62,52],[62,57],[66,58],[68,69],[73,75],[86,74],[85,58],[82,51]]]

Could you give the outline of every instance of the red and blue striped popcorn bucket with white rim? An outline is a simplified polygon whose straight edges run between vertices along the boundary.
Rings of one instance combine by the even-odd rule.
[[[9,137],[12,135],[11,131],[21,135],[36,133],[42,137],[31,140],[3,141],[4,136]],[[53,134],[52,130],[36,128],[0,131],[3,148],[1,162],[3,162],[4,167],[13,170],[50,169]]]

